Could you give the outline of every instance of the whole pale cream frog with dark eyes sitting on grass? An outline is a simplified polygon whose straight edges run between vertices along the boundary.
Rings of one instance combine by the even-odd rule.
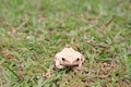
[[[55,54],[55,66],[57,69],[66,69],[68,66],[81,69],[84,60],[85,58],[81,52],[68,46]]]

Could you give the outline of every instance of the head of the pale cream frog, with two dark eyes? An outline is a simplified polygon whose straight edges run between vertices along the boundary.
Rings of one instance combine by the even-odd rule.
[[[84,57],[72,48],[64,48],[61,52],[56,54],[56,59],[59,60],[60,64],[63,66],[78,66],[84,61]]]

